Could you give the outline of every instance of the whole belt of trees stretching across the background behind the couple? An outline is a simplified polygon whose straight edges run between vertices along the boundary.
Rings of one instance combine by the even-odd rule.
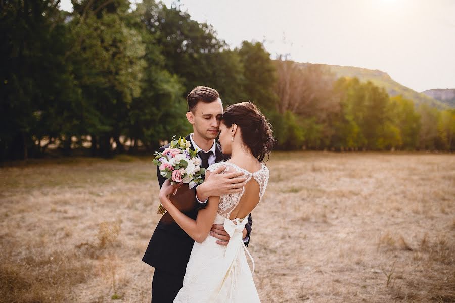
[[[455,149],[454,110],[381,71],[271,60],[260,42],[229,49],[178,4],[58,4],[0,3],[0,160],[87,142],[98,156],[153,153],[191,131],[185,96],[198,85],[225,105],[254,102],[280,149]]]

